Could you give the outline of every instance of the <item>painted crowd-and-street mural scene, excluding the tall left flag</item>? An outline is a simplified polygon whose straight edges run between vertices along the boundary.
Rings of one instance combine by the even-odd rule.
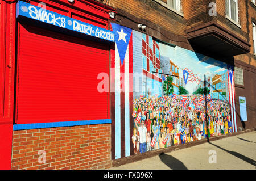
[[[236,131],[231,66],[137,31],[133,49],[134,154]]]

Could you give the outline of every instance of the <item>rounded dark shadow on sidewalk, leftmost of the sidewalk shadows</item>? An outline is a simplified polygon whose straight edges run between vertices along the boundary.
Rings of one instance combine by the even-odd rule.
[[[172,170],[188,170],[187,167],[171,155],[164,154],[163,152],[159,154],[161,161],[166,164]]]

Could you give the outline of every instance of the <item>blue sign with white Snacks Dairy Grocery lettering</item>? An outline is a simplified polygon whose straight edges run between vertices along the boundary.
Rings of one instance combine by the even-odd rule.
[[[18,18],[18,16],[24,16],[40,22],[52,24],[57,27],[114,42],[113,31],[93,26],[92,24],[69,18],[68,16],[57,14],[56,12],[48,11],[23,1],[18,1],[16,5],[16,18]]]

